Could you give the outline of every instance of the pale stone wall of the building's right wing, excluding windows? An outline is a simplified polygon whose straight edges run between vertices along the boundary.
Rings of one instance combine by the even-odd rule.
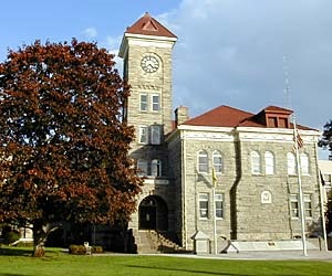
[[[259,130],[258,130],[259,131]],[[276,131],[276,130],[274,130]],[[217,220],[218,243],[224,238],[232,240],[282,240],[301,235],[299,219],[292,219],[290,194],[299,193],[298,177],[288,176],[287,152],[292,151],[292,131],[283,136],[282,141],[267,139],[240,139],[234,132],[232,138],[222,134],[196,132],[183,130],[186,137],[186,230],[187,243],[198,230],[214,240],[212,214],[212,160],[214,150],[221,152],[224,172],[217,174],[216,193],[225,195],[224,217]],[[228,132],[229,134],[229,132]],[[211,137],[214,137],[211,139]],[[287,137],[287,138],[286,138]],[[281,139],[281,138],[280,138]],[[197,153],[205,150],[209,156],[209,172],[198,173]],[[261,173],[251,173],[250,152],[256,150],[261,156]],[[274,173],[264,172],[264,152],[274,155]],[[303,193],[311,194],[312,217],[307,219],[307,234],[321,231],[319,204],[319,178],[314,142],[309,142],[301,151],[310,159],[310,174],[302,176]],[[209,194],[209,216],[198,216],[198,194]],[[270,202],[262,201],[262,193],[271,195]]]

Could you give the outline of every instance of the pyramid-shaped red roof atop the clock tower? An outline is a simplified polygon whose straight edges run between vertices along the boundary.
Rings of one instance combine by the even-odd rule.
[[[167,36],[176,39],[176,35],[174,33],[162,25],[157,20],[152,18],[148,12],[146,12],[144,17],[138,19],[133,25],[128,26],[125,33]]]

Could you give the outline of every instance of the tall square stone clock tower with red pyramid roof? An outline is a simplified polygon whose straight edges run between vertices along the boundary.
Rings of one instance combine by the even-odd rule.
[[[124,118],[135,127],[131,157],[145,178],[137,213],[129,227],[172,230],[174,185],[165,137],[173,130],[172,51],[177,41],[169,30],[145,13],[124,33],[118,55],[131,85]]]

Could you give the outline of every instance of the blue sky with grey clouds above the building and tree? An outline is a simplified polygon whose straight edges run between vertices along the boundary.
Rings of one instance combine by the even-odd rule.
[[[332,119],[331,0],[3,1],[0,62],[35,40],[76,38],[117,54],[145,12],[178,36],[174,107],[189,107],[190,117],[220,105],[255,114],[276,105],[319,130]]]

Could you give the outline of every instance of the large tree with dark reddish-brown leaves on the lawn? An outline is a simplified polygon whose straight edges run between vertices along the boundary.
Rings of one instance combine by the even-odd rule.
[[[96,43],[35,41],[0,64],[0,222],[33,225],[34,255],[61,221],[128,221],[142,180],[122,119],[128,86]]]

